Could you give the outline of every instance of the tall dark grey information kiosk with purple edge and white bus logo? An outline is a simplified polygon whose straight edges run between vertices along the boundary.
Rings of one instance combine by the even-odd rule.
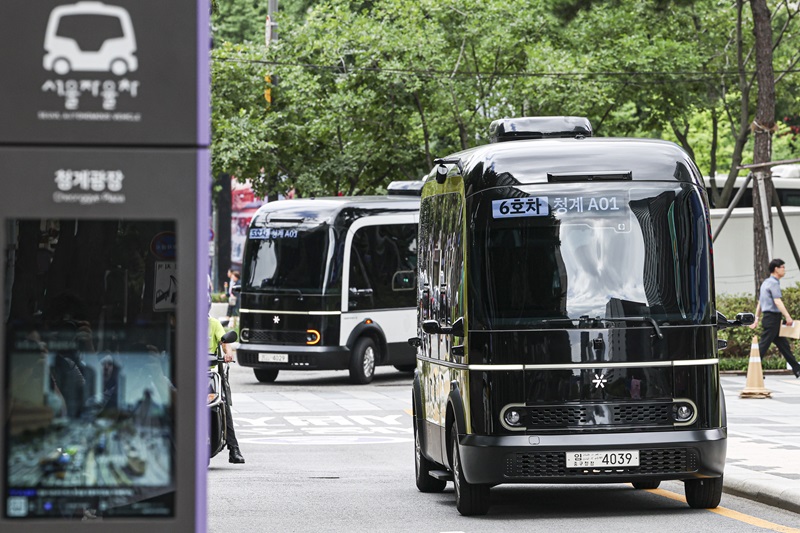
[[[4,533],[205,531],[208,48],[198,0],[0,5]]]

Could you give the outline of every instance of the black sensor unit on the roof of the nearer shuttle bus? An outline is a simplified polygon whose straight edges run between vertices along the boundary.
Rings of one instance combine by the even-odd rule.
[[[592,124],[585,117],[501,118],[489,126],[489,140],[493,143],[591,136]]]

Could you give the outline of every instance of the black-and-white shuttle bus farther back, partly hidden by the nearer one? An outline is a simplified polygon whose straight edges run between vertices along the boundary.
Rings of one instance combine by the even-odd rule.
[[[242,265],[239,363],[281,370],[414,370],[421,182],[385,196],[270,202],[253,217]]]

